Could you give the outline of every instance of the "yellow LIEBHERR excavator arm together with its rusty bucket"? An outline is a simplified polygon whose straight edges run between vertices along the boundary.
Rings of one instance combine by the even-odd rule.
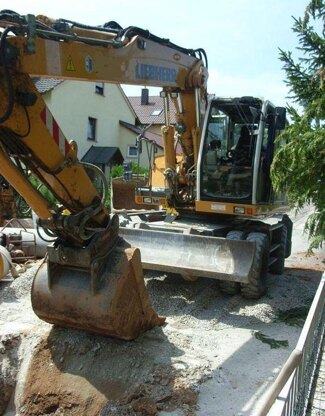
[[[52,240],[34,279],[34,311],[51,323],[135,338],[163,322],[150,305],[139,250],[119,237],[118,218],[90,179],[99,176],[105,190],[104,175],[79,162],[77,144],[64,136],[33,77],[161,86],[166,100],[173,96],[179,108],[175,130],[167,123],[163,135],[169,181],[173,185],[177,177],[182,184],[198,149],[195,108],[205,98],[204,52],[114,22],[91,28],[3,11],[0,27],[0,173]],[[175,137],[185,155],[179,172]],[[57,203],[35,189],[30,174]]]

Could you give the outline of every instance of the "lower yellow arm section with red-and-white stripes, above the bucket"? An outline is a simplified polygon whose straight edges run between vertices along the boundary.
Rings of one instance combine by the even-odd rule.
[[[24,196],[41,219],[43,226],[66,238],[84,241],[91,237],[85,230],[86,218],[105,226],[108,212],[97,194],[85,165],[77,159],[77,146],[68,142],[57,121],[36,90],[32,79],[13,75],[14,106],[10,117],[1,124],[0,163],[2,175]],[[1,89],[1,103],[8,102]],[[18,98],[17,99],[17,95]],[[32,103],[23,100],[32,100]],[[5,108],[4,108],[5,110]],[[100,172],[91,167],[97,175]],[[50,205],[32,186],[27,175],[34,174],[54,194],[60,205]],[[104,179],[103,179],[104,180]],[[62,215],[68,210],[69,215]],[[65,227],[62,217],[73,217]],[[76,218],[79,218],[77,221]],[[77,222],[76,222],[77,221]],[[78,224],[79,222],[79,224]],[[64,230],[66,228],[66,230]]]

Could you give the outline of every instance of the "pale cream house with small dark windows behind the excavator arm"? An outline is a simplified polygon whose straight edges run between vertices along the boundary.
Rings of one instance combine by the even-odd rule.
[[[145,123],[120,85],[54,78],[35,78],[34,83],[67,139],[76,141],[81,161],[108,175],[113,165],[138,161],[140,137],[157,143],[156,152],[162,153],[160,136],[143,133]],[[141,155],[141,166],[148,163]]]

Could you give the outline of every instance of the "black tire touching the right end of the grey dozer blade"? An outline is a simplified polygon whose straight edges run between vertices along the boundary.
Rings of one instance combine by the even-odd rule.
[[[269,239],[262,233],[250,233],[246,240],[254,241],[256,249],[250,280],[241,283],[241,294],[248,299],[259,299],[266,292]]]

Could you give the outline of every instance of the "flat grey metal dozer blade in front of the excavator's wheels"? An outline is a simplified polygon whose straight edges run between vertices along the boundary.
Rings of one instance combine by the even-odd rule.
[[[255,255],[250,241],[122,227],[119,233],[140,248],[144,269],[249,282]]]

